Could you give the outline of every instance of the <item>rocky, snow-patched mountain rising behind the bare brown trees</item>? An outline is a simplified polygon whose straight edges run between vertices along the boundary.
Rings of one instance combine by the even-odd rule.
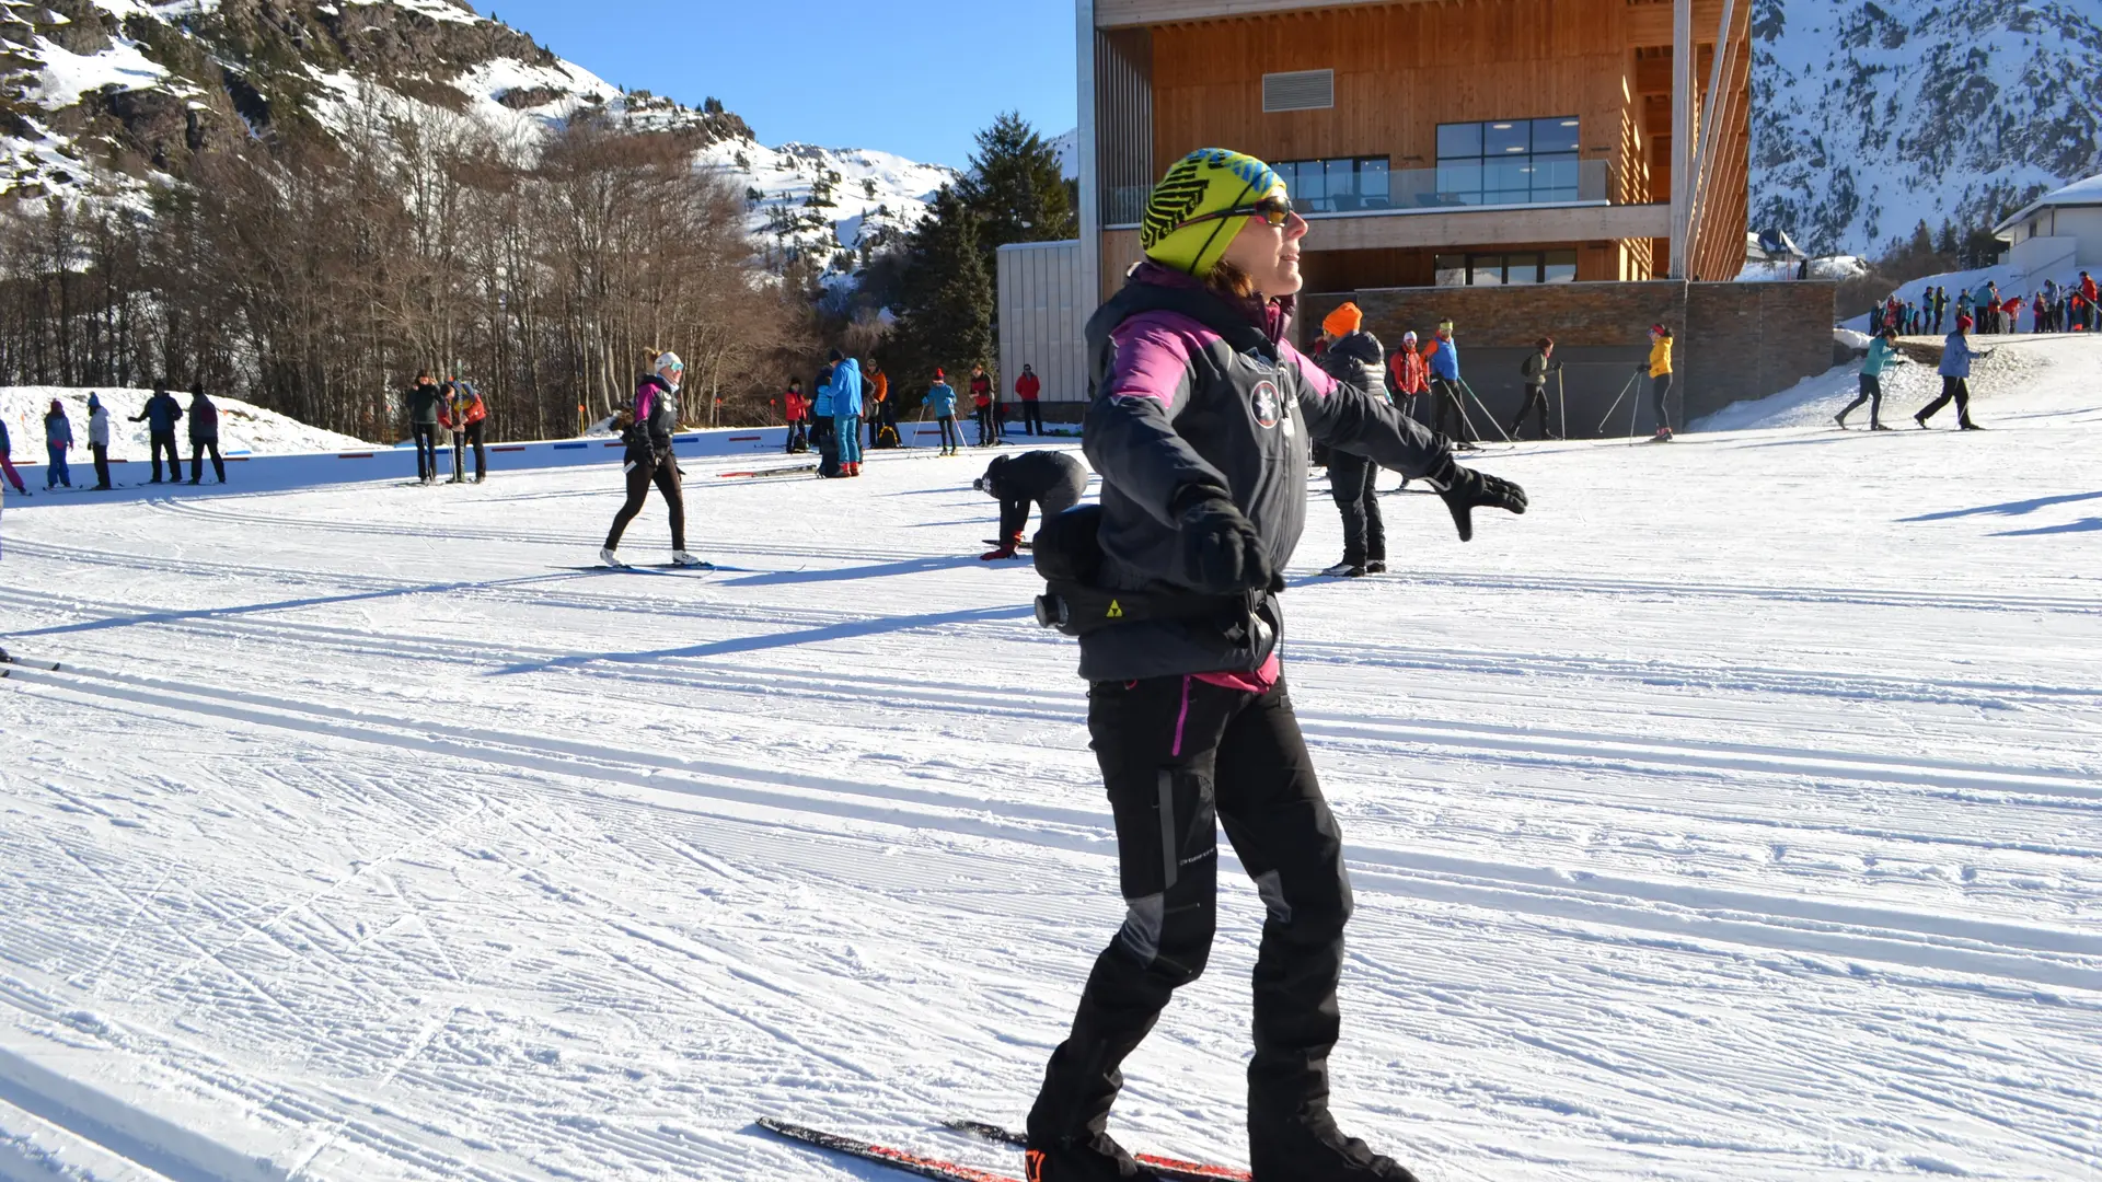
[[[437,107],[530,143],[582,111],[696,143],[778,254],[832,259],[910,227],[956,175],[767,147],[719,103],[622,93],[465,0],[0,0],[0,196],[139,200],[195,154],[362,111]]]

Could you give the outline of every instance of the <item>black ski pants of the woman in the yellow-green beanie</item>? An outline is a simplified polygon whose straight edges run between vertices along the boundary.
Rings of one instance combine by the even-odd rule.
[[[1249,1150],[1263,1171],[1263,1129],[1326,1113],[1352,911],[1343,835],[1320,795],[1291,694],[1282,681],[1251,694],[1188,675],[1097,681],[1087,730],[1116,818],[1127,917],[1095,959],[1072,1033],[1051,1054],[1030,1140],[1104,1129],[1125,1056],[1175,989],[1204,972],[1223,824],[1268,913],[1249,1064]]]

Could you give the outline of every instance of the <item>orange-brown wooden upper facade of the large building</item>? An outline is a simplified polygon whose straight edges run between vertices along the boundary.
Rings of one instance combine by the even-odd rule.
[[[1198,147],[1284,172],[1310,292],[1743,265],[1753,0],[1076,4],[1083,282],[1104,294],[1152,183]]]

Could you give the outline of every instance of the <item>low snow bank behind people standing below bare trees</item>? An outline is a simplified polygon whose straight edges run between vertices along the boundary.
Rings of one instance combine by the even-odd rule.
[[[44,412],[50,400],[65,404],[65,416],[74,421],[74,461],[88,456],[88,393],[97,393],[109,408],[109,458],[143,461],[151,452],[151,437],[145,423],[130,416],[153,398],[151,389],[101,389],[63,385],[11,385],[0,387],[0,419],[15,444],[15,458],[44,458]],[[172,391],[183,412],[189,412],[189,395]],[[370,448],[372,444],[353,435],[338,435],[309,427],[298,419],[250,406],[238,398],[212,398],[219,408],[219,450],[225,454],[282,456],[298,452],[341,452],[347,448]],[[187,448],[189,423],[174,425],[177,440]]]

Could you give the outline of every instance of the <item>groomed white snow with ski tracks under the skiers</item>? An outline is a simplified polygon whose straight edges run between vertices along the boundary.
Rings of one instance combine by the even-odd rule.
[[[1984,433],[1492,448],[1532,513],[1389,494],[1383,578],[1312,576],[1310,484],[1349,1129],[1434,1182],[2096,1176],[2102,347],[2016,349]],[[0,1176],[887,1178],[759,1115],[1019,1174],[935,1121],[1022,1119],[1122,904],[982,461],[689,461],[710,576],[578,570],[612,465],[11,505],[4,644],[69,669],[0,681]],[[1114,1129],[1234,1163],[1221,881]]]

